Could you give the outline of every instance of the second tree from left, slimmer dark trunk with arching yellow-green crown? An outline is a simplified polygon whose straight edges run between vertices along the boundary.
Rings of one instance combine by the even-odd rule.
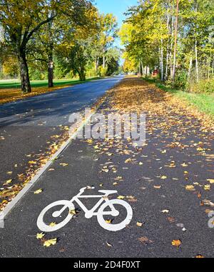
[[[54,51],[66,32],[73,33],[76,27],[94,28],[96,9],[90,0],[72,0],[69,9],[58,13],[56,18],[42,26],[36,34],[37,59],[46,64],[48,68],[49,87],[54,86]],[[55,10],[51,11],[54,17]],[[94,20],[92,20],[92,17]],[[35,51],[35,50],[34,50]],[[33,54],[34,54],[33,51]]]

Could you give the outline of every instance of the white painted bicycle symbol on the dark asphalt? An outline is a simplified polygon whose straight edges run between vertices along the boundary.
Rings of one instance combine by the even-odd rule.
[[[66,224],[71,220],[73,217],[73,214],[71,211],[75,211],[75,206],[73,205],[73,202],[76,201],[78,203],[78,206],[82,208],[82,210],[85,212],[85,217],[90,219],[93,216],[97,216],[98,223],[101,225],[101,227],[105,228],[108,231],[121,231],[123,228],[126,228],[126,226],[131,222],[133,211],[131,206],[121,199],[112,199],[109,200],[108,196],[111,194],[117,193],[118,191],[106,191],[101,190],[98,191],[99,193],[103,193],[103,195],[98,196],[86,196],[83,195],[83,193],[86,191],[87,187],[81,188],[80,192],[73,196],[71,201],[61,200],[56,201],[54,203],[51,203],[49,206],[46,206],[43,211],[41,211],[38,219],[37,219],[37,226],[41,231],[44,232],[53,232],[57,231],[60,228],[63,228],[63,226],[66,226]],[[91,210],[88,210],[86,206],[83,205],[81,202],[81,198],[101,198],[98,203],[96,203],[95,206]],[[104,203],[103,203],[104,202]],[[126,208],[126,218],[121,223],[111,224],[107,223],[103,216],[113,216],[117,217],[119,216],[120,212],[114,207],[115,205],[123,206],[123,208]],[[63,206],[60,210],[54,211],[52,213],[52,216],[54,218],[61,217],[62,213],[68,209],[68,215],[61,223],[56,223],[54,226],[49,226],[48,224],[44,223],[44,217],[50,211],[52,208],[56,208],[58,206]],[[108,208],[108,211],[105,211],[106,208]],[[110,211],[109,211],[110,208]],[[96,212],[96,210],[98,211]]]

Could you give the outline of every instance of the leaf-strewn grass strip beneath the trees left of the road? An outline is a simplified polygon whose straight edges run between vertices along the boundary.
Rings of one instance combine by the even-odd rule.
[[[30,96],[38,96],[39,94],[44,94],[49,91],[56,91],[58,89],[72,86],[76,84],[81,84],[87,81],[92,81],[96,79],[101,79],[98,77],[86,79],[86,81],[79,81],[77,79],[63,79],[54,81],[54,87],[48,87],[48,81],[31,81],[32,91],[30,94],[21,93],[21,84],[17,80],[0,80],[0,104],[8,103],[11,101],[16,101],[19,99],[24,99]]]

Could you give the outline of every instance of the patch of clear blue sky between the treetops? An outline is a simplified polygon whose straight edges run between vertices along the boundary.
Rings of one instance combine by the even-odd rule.
[[[112,13],[118,19],[118,24],[121,26],[125,16],[124,12],[128,9],[128,6],[134,6],[138,3],[138,0],[95,0],[96,6],[101,13]]]

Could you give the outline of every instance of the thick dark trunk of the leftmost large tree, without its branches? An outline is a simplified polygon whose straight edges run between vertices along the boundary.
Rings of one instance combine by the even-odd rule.
[[[29,68],[26,61],[26,54],[24,49],[20,49],[18,52],[18,61],[20,69],[20,78],[21,78],[21,91],[26,93],[31,93],[31,84],[29,79]]]

